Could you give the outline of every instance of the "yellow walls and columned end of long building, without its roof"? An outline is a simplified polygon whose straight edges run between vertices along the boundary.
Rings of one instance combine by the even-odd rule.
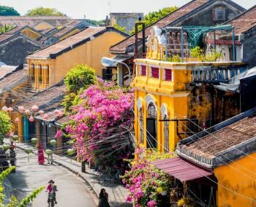
[[[56,57],[56,59],[28,58],[31,82],[36,89],[45,89],[60,82],[67,72],[76,64],[86,64],[95,69],[98,77],[102,77],[102,57],[112,57],[109,48],[125,37],[110,31],[97,36],[89,42],[81,44]]]

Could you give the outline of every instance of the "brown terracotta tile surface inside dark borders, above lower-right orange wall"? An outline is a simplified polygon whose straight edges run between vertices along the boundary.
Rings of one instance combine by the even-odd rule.
[[[195,155],[212,158],[225,149],[232,149],[237,144],[255,137],[256,116],[246,117],[197,141],[184,144],[181,149],[188,150]]]

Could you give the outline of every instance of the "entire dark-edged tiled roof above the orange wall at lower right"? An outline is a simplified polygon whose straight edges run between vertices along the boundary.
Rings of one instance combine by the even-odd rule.
[[[243,154],[241,152],[244,154],[255,152],[255,112],[255,109],[251,109],[180,141],[177,147],[178,155],[197,164],[214,166],[238,158]]]

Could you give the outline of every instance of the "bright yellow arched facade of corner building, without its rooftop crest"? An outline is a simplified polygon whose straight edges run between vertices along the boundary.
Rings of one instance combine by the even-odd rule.
[[[157,110],[157,149],[160,152],[172,152],[181,138],[186,138],[187,122],[179,122],[177,134],[176,119],[196,117],[204,122],[211,117],[211,98],[206,95],[206,86],[187,89],[192,82],[192,70],[208,66],[236,65],[240,63],[173,63],[151,59],[136,59],[136,77],[131,84],[135,90],[135,137],[137,145],[148,147],[147,120],[148,106],[152,103]],[[145,69],[146,68],[146,69]],[[154,69],[158,77],[154,77]],[[165,74],[169,73],[169,79]],[[203,93],[197,101],[197,95]],[[141,114],[143,114],[143,122]],[[141,118],[141,120],[140,120]],[[172,121],[164,121],[164,119]],[[143,126],[142,126],[143,125]],[[168,126],[168,128],[167,128]],[[143,131],[142,131],[143,128]],[[150,128],[149,128],[150,130]],[[168,130],[168,132],[166,132]],[[143,138],[142,138],[143,135]],[[151,137],[151,136],[149,136]]]

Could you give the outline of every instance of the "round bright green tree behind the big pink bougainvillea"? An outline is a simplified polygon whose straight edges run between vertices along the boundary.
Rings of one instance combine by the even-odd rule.
[[[69,111],[71,106],[78,103],[80,91],[85,90],[90,85],[94,85],[96,82],[95,71],[90,66],[81,64],[71,69],[64,79],[64,83],[69,91],[69,94],[64,97],[62,103],[66,112]]]

